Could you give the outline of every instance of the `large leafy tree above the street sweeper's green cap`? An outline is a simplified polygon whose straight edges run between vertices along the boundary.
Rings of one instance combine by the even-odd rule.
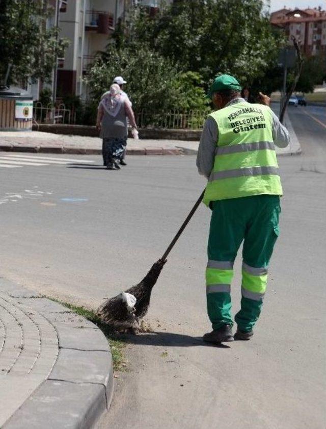
[[[284,37],[271,28],[260,0],[179,0],[155,17],[133,8],[114,34],[119,45],[147,43],[208,86],[218,73],[251,82],[276,61]]]

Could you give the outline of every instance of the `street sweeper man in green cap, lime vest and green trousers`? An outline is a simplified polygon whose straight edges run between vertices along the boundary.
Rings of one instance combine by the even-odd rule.
[[[203,128],[197,167],[208,179],[203,201],[212,210],[206,268],[210,343],[249,340],[260,315],[268,264],[279,235],[282,186],[275,145],[286,147],[289,134],[269,108],[241,98],[238,81],[223,74],[207,96],[217,109]],[[233,337],[230,287],[233,263],[243,241],[241,308]]]

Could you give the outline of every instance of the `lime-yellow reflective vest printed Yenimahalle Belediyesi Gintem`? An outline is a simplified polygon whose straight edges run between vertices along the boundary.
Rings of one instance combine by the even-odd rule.
[[[210,116],[218,124],[219,139],[204,203],[259,194],[282,195],[269,107],[240,102]]]

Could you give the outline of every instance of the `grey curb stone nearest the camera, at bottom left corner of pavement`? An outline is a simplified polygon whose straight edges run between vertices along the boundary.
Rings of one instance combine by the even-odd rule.
[[[47,380],[2,429],[89,429],[105,410],[103,386]]]

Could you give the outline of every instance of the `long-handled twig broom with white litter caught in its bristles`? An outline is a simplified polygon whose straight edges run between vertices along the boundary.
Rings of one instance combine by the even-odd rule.
[[[182,223],[179,231],[175,235],[174,239],[171,241],[169,247],[165,251],[164,255],[156,261],[149,272],[146,274],[144,279],[138,283],[138,285],[132,286],[124,293],[120,293],[114,298],[107,299],[97,310],[97,315],[106,323],[109,324],[124,324],[130,323],[133,321],[139,321],[148,311],[149,301],[151,298],[152,288],[155,285],[158,276],[167,262],[167,257],[172,250],[173,246],[177,242],[178,238],[182,234],[189,220],[193,217],[195,211],[200,205],[205,190],[201,193],[200,197],[196,201],[196,204],[186,217],[185,221]],[[130,307],[128,302],[126,302],[126,295],[130,294],[136,298],[135,304]]]

